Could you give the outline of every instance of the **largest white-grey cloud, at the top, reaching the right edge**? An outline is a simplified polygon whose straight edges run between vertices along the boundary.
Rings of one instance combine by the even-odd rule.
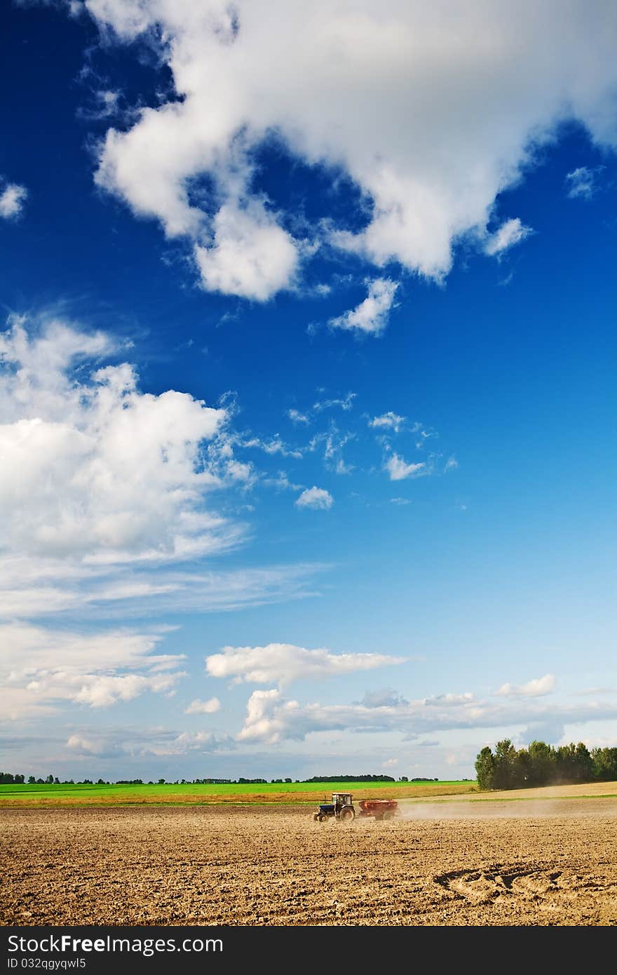
[[[289,285],[297,244],[251,191],[251,150],[265,137],[360,187],[367,225],[337,228],[338,246],[438,280],[457,240],[482,242],[497,195],[560,122],[617,144],[610,3],[591,18],[585,0],[86,6],[120,40],[157,44],[182,97],[110,130],[97,181],[205,249],[206,287],[262,298]],[[220,219],[192,195],[201,174]],[[257,253],[264,239],[273,254]]]

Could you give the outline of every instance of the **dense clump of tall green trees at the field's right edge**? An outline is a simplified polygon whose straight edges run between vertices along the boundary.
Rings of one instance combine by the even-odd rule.
[[[498,741],[495,751],[482,748],[476,759],[480,789],[525,789],[533,786],[573,785],[617,779],[617,748],[578,745],[547,745],[532,741],[517,749],[509,738]]]

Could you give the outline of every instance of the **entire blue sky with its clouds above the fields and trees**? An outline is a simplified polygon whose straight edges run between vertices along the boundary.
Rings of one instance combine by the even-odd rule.
[[[594,6],[3,8],[3,767],[615,743]]]

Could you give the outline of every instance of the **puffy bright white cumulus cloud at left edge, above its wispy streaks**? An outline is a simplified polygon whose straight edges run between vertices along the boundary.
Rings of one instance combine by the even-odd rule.
[[[101,332],[62,322],[37,334],[13,319],[0,334],[0,546],[106,562],[225,548],[203,452],[225,411],[141,393],[128,363],[78,377],[111,351]]]

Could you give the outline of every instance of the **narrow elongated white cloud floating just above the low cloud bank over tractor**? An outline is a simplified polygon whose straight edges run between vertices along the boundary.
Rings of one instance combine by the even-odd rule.
[[[292,643],[267,646],[224,646],[206,657],[211,677],[234,678],[244,683],[279,683],[323,680],[342,674],[375,670],[405,663],[405,657],[383,653],[332,653],[328,649],[306,649]]]

